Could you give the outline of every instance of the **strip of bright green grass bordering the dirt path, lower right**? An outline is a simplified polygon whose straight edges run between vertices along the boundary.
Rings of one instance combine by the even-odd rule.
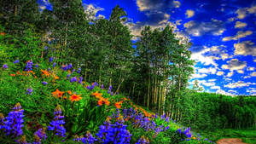
[[[211,136],[212,141],[218,141],[223,138],[241,138],[243,142],[256,144],[256,128],[246,130],[214,130],[214,131],[201,131],[202,135]]]

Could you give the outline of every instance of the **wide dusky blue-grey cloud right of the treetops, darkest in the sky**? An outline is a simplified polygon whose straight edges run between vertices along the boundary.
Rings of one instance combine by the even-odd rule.
[[[190,20],[189,22],[184,23],[183,26],[186,28],[185,32],[195,37],[201,37],[205,34],[219,36],[225,31],[224,22],[214,19],[209,22]]]

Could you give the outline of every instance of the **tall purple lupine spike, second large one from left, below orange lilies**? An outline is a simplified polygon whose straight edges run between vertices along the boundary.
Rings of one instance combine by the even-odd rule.
[[[65,137],[66,129],[63,126],[63,124],[65,124],[65,121],[63,120],[64,116],[61,116],[60,105],[57,105],[57,107],[55,107],[54,115],[55,118],[53,121],[51,121],[50,126],[48,126],[48,130],[54,131],[55,135]]]

